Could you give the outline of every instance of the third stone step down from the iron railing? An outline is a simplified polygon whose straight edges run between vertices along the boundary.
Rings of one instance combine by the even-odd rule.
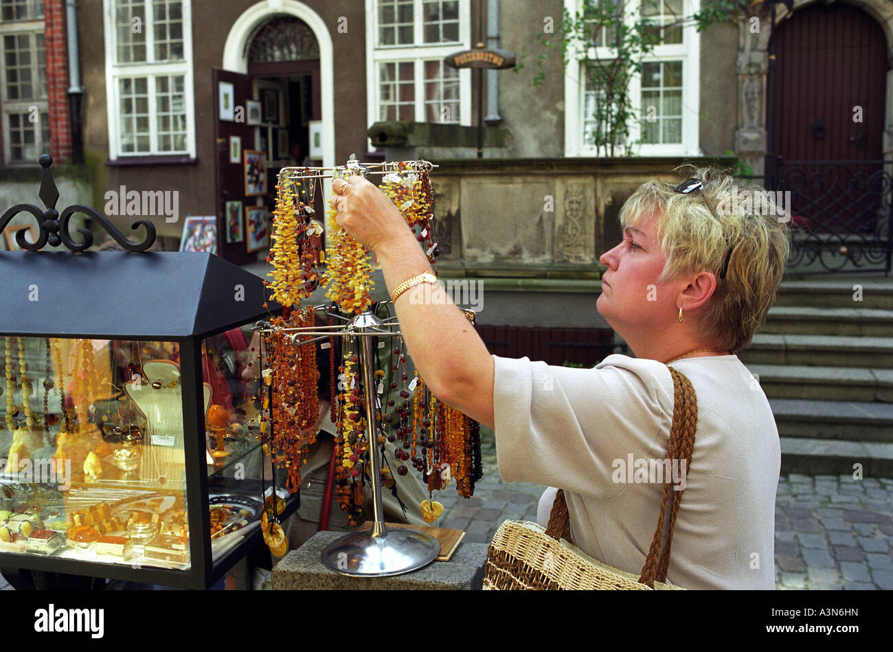
[[[757,333],[737,354],[745,364],[893,368],[893,338]]]

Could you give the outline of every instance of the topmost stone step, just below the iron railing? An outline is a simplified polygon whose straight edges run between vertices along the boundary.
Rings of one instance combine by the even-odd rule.
[[[893,283],[860,274],[851,279],[784,280],[775,305],[893,310]]]

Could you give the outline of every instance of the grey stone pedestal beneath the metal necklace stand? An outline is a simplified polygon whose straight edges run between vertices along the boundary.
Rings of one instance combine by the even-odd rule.
[[[274,590],[379,589],[379,590],[471,590],[480,589],[487,561],[487,544],[461,543],[448,562],[433,562],[405,575],[391,577],[347,577],[322,565],[322,548],[344,536],[344,532],[317,532],[292,550],[273,568]]]

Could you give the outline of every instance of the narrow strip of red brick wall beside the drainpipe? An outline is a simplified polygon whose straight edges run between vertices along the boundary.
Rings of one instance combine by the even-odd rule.
[[[50,154],[54,165],[71,160],[71,105],[68,100],[68,46],[65,0],[46,0],[46,95],[50,119]]]

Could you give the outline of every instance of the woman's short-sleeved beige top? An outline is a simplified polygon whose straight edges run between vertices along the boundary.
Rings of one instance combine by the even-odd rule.
[[[663,460],[670,438],[666,365],[626,355],[609,355],[593,369],[493,359],[503,480],[563,488],[574,542],[638,573],[663,495],[663,466],[659,474],[648,461]],[[686,589],[774,589],[781,453],[769,402],[735,355],[673,366],[691,380],[698,414],[667,579]],[[543,525],[554,495],[544,494]]]

